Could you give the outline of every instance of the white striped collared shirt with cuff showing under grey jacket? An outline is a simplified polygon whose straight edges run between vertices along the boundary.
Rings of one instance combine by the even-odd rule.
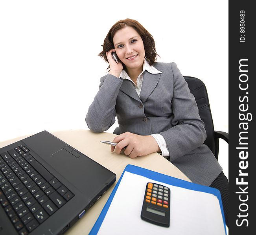
[[[140,97],[140,92],[141,92],[141,88],[142,88],[142,82],[143,82],[143,75],[144,75],[144,71],[147,70],[147,72],[151,73],[151,74],[159,74],[162,73],[160,71],[158,71],[153,65],[150,66],[149,63],[147,62],[146,59],[144,59],[144,63],[143,63],[143,68],[142,68],[142,72],[139,74],[136,83],[135,84],[133,82],[133,80],[131,80],[131,78],[129,77],[129,75],[127,74],[127,72],[125,72],[125,70],[123,69],[119,78],[123,78],[123,79],[128,79],[130,81],[132,81],[134,88],[138,94],[138,96]],[[162,156],[163,157],[168,157],[169,151],[167,148],[167,144],[166,141],[164,139],[164,137],[160,134],[152,134],[151,136],[153,136],[155,138],[155,140],[157,141],[157,144],[162,152]]]

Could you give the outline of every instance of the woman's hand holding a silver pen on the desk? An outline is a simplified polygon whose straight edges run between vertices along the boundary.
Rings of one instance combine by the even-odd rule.
[[[118,143],[116,146],[111,146],[111,152],[115,150],[120,154],[124,147],[124,154],[134,158],[144,156],[160,151],[157,141],[153,136],[140,136],[131,132],[125,132],[113,139],[113,142]]]

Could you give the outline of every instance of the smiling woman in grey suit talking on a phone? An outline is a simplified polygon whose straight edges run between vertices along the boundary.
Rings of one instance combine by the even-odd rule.
[[[111,146],[112,152],[120,154],[126,147],[124,154],[131,158],[162,152],[193,183],[227,190],[221,166],[203,145],[206,132],[195,98],[175,63],[155,62],[151,34],[136,20],[120,20],[99,56],[109,63],[109,74],[100,79],[86,116],[88,127],[103,132],[117,116],[122,134],[114,138],[118,144]],[[228,191],[221,194],[228,225]]]

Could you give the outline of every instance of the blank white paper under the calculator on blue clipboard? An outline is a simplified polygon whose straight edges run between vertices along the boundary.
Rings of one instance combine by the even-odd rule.
[[[169,228],[140,218],[148,182],[165,185],[171,190]],[[225,235],[225,228],[219,200],[213,194],[188,190],[125,172],[98,234]]]

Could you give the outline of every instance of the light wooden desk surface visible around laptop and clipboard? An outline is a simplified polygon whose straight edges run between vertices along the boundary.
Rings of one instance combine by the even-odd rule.
[[[112,185],[101,199],[66,232],[67,235],[88,234],[90,232],[127,164],[140,166],[162,174],[190,181],[177,167],[157,153],[136,157],[134,159],[131,159],[124,154],[111,153],[110,146],[100,143],[99,141],[112,141],[116,136],[112,133],[103,132],[97,134],[90,130],[66,130],[51,133],[116,174],[116,182],[114,185]],[[25,137],[27,136],[0,142],[0,148],[24,139]]]

